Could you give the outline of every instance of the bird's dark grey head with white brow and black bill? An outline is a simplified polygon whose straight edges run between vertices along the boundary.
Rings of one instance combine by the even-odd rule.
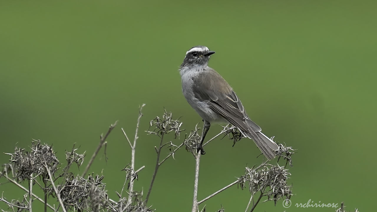
[[[207,65],[210,55],[215,54],[214,51],[210,51],[206,46],[194,46],[186,52],[184,65]]]

